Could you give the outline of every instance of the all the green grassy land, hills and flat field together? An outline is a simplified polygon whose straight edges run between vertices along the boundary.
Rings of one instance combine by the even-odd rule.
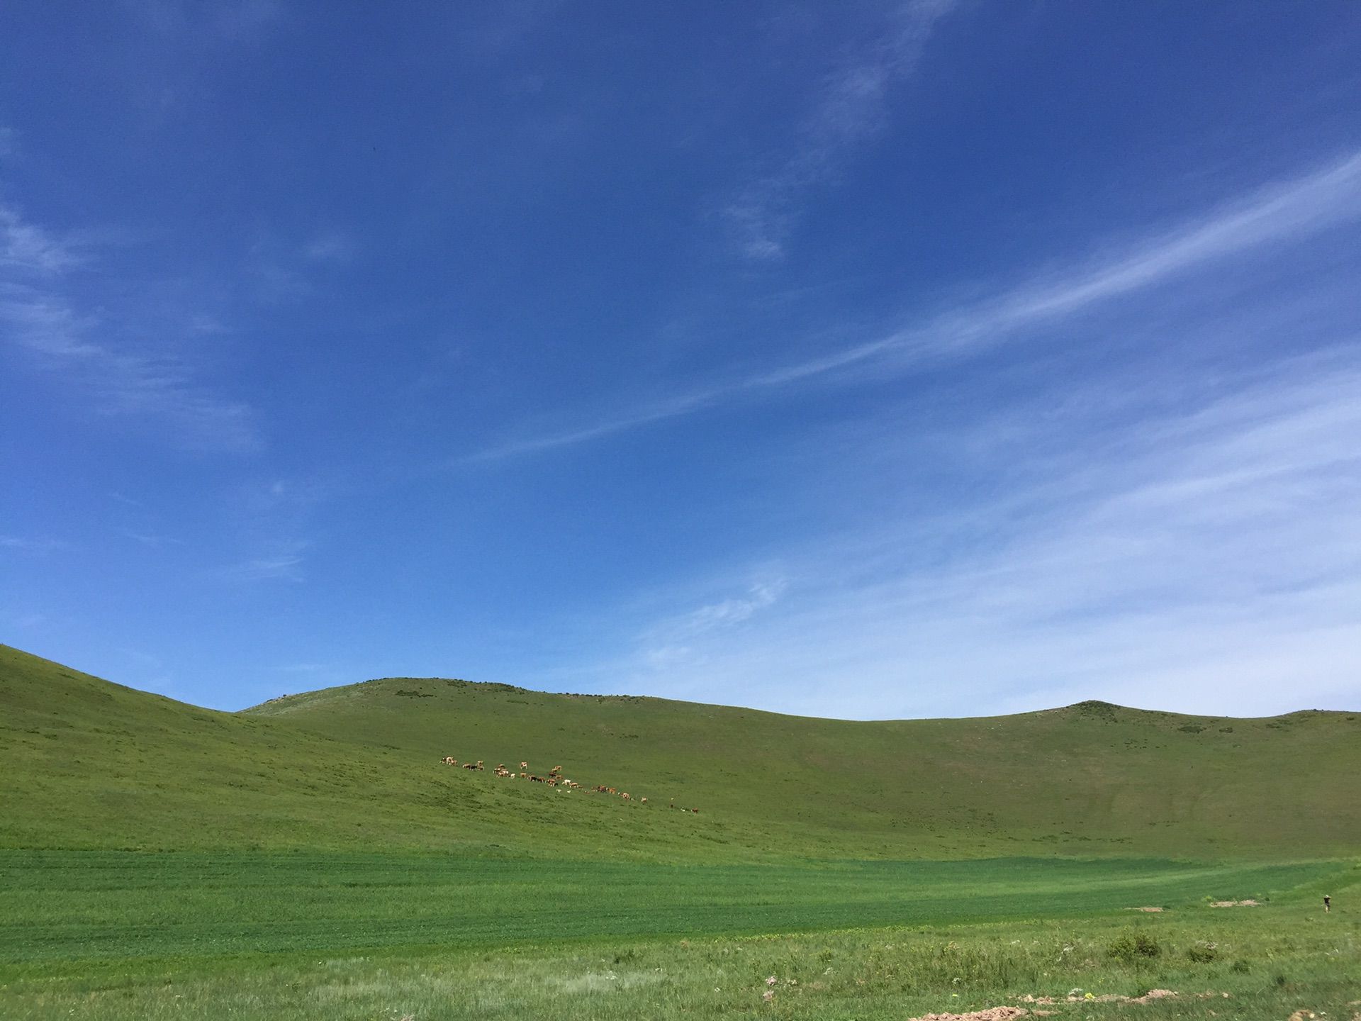
[[[441,679],[222,713],[0,647],[0,1017],[1350,1021],[1358,775],[1353,713],[847,723]],[[1101,999],[1150,988],[1179,995]]]

